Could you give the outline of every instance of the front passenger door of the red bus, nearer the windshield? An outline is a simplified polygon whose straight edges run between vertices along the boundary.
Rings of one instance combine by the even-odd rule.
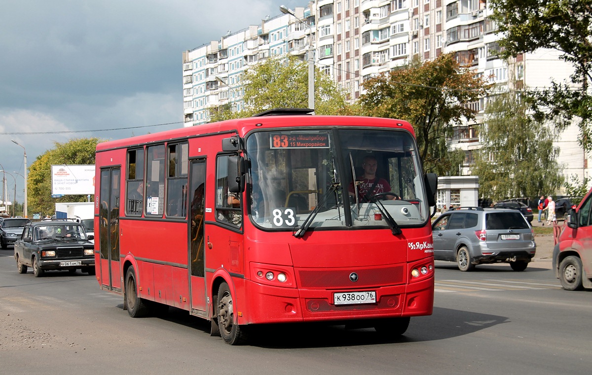
[[[205,159],[192,160],[189,186],[189,287],[191,288],[191,311],[205,314]],[[200,315],[202,315],[200,314]]]

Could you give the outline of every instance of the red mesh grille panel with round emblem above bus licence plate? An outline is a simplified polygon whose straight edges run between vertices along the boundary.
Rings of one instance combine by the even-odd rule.
[[[349,275],[358,274],[355,283]],[[300,287],[327,289],[334,287],[369,287],[397,285],[405,282],[403,266],[349,270],[300,270]]]

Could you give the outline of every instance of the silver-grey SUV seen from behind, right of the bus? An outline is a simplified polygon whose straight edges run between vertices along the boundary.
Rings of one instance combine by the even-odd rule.
[[[532,227],[513,209],[456,208],[440,215],[432,231],[434,259],[456,261],[461,271],[497,262],[524,271],[536,253]]]

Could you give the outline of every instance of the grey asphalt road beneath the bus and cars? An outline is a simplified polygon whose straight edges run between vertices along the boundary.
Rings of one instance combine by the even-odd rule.
[[[209,324],[172,309],[133,319],[94,276],[18,274],[0,250],[0,373],[94,374],[585,374],[592,293],[568,292],[536,260],[462,273],[436,262],[432,316],[400,338],[372,329],[274,325],[250,345],[210,337]]]

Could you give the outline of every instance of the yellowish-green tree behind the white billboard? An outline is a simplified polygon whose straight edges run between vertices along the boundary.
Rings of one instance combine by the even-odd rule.
[[[65,195],[52,198],[52,165],[59,164],[95,164],[95,149],[99,138],[81,138],[55,142],[52,150],[37,157],[28,172],[28,211],[43,215],[56,211],[56,202],[86,202],[82,195]]]

